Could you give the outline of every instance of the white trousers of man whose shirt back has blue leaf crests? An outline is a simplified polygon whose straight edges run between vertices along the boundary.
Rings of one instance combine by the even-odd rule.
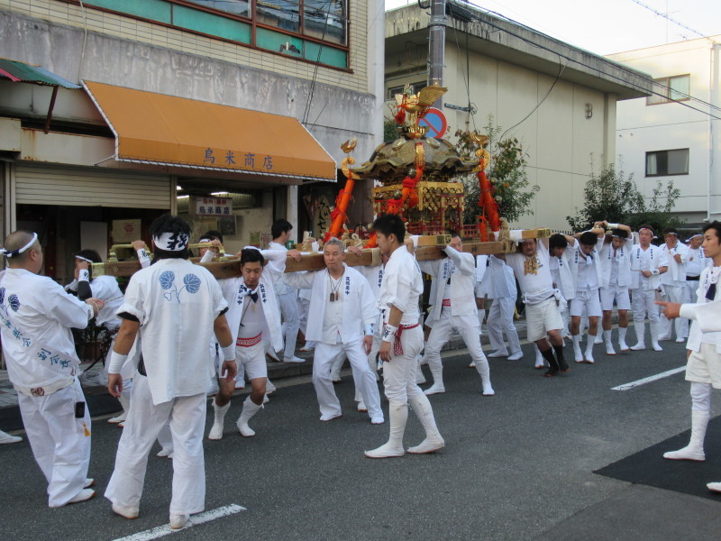
[[[205,403],[205,393],[201,393],[154,405],[148,379],[138,374],[105,498],[123,507],[140,507],[148,454],[160,428],[169,421],[174,449],[170,513],[189,515],[202,511],[205,508]]]

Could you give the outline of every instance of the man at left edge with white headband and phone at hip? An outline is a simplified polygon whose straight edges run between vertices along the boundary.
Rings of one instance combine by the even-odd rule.
[[[89,500],[90,413],[78,381],[70,327],[85,328],[103,301],[81,301],[39,276],[38,235],[16,231],[0,250],[9,268],[0,282],[0,332],[7,374],[17,390],[35,461],[48,481],[48,505]]]

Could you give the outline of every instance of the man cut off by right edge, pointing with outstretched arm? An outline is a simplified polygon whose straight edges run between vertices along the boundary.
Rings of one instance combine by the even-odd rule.
[[[664,453],[671,460],[704,461],[704,439],[711,417],[711,390],[721,389],[721,223],[704,227],[703,247],[712,264],[701,271],[698,303],[659,302],[668,318],[692,321],[686,345],[686,381],[691,383],[691,437],[689,445]],[[711,491],[721,492],[721,482],[710,482]]]

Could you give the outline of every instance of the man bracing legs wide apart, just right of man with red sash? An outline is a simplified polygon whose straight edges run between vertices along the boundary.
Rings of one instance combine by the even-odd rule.
[[[421,271],[430,274],[435,282],[433,306],[425,319],[431,334],[425,342],[424,360],[434,377],[434,384],[424,390],[433,395],[445,392],[441,348],[452,331],[458,332],[468,348],[470,358],[479,372],[483,396],[493,396],[488,359],[480,347],[480,326],[476,307],[476,262],[473,254],[463,252],[459,234],[451,233],[451,243],[443,248],[447,257],[434,261],[418,261]]]

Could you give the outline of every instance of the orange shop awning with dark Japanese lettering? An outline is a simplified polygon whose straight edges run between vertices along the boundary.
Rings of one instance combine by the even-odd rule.
[[[335,181],[333,158],[296,118],[84,81],[115,134],[115,159]]]

